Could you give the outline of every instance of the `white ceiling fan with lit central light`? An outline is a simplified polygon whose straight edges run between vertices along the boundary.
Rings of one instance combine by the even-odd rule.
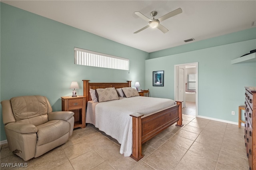
[[[142,13],[140,12],[134,12],[134,14],[136,14],[137,16],[139,16],[140,18],[142,18],[143,20],[146,20],[148,22],[148,25],[143,27],[142,29],[134,32],[134,34],[137,34],[138,32],[141,32],[142,30],[145,30],[146,28],[148,27],[151,27],[151,28],[158,28],[159,30],[161,30],[163,33],[166,33],[168,32],[169,30],[167,30],[167,28],[165,28],[164,26],[162,26],[160,24],[160,22],[168,19],[168,18],[171,18],[172,16],[176,16],[178,14],[182,13],[182,9],[181,8],[178,8],[172,12],[169,12],[168,14],[165,14],[164,16],[161,16],[160,18],[158,19],[155,19],[155,16],[157,15],[157,12],[156,11],[152,11],[150,13],[150,15],[153,17],[153,19],[151,20],[150,18],[144,16]]]

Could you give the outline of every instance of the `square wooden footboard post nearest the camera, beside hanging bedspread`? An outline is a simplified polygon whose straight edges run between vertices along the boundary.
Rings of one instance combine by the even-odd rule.
[[[136,161],[139,161],[141,158],[143,158],[141,143],[141,117],[143,115],[140,113],[134,113],[130,116],[132,116],[132,154],[130,157]]]

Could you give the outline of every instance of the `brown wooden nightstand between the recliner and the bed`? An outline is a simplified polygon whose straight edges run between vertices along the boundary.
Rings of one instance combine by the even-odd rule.
[[[85,96],[61,97],[62,111],[74,112],[74,128],[85,128]]]

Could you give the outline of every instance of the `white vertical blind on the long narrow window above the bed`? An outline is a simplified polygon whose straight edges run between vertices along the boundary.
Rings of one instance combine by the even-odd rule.
[[[74,51],[75,64],[129,70],[129,59],[76,47],[74,47]]]

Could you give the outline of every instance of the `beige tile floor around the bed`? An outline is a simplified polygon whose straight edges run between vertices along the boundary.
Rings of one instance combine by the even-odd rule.
[[[187,106],[188,107],[188,106]],[[27,163],[31,170],[248,170],[244,128],[196,118],[184,108],[183,127],[172,125],[142,146],[136,162],[119,154],[118,142],[93,125],[74,129],[68,142],[24,162],[1,146],[2,163]],[[187,114],[186,114],[187,113]],[[195,114],[195,113],[194,113]],[[14,168],[13,168],[14,169]]]

